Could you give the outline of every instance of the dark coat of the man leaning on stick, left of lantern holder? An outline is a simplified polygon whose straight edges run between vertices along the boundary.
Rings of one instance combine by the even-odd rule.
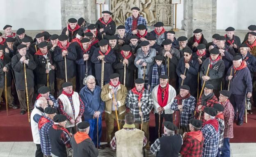
[[[11,67],[14,70],[16,88],[17,90],[25,90],[25,75],[24,75],[24,64],[20,62],[20,53],[17,53],[11,58]],[[25,55],[26,59],[29,59],[28,64],[25,64],[27,73],[27,88],[34,87],[34,73],[33,70],[36,69],[37,64],[34,62],[34,58],[29,53]]]

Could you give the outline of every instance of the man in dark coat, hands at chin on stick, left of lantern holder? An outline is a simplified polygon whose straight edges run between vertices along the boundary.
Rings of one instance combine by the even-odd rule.
[[[21,106],[21,114],[24,115],[26,110],[32,110],[33,103],[32,98],[34,94],[34,73],[33,70],[36,69],[37,64],[34,62],[32,55],[27,53],[26,45],[20,44],[17,46],[18,53],[11,58],[11,67],[14,70],[16,89],[18,91],[18,99]],[[25,75],[24,75],[24,65],[26,67],[27,74],[27,90],[28,90],[28,104],[26,104],[26,93],[25,93]]]

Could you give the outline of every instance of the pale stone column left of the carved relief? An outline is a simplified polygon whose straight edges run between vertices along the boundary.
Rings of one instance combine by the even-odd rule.
[[[69,18],[84,18],[87,22],[96,22],[95,0],[61,0],[62,29]]]

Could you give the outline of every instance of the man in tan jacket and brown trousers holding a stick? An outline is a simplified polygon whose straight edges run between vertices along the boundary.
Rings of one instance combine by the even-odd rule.
[[[105,121],[107,125],[107,142],[110,142],[114,131],[114,121],[117,111],[118,119],[124,119],[126,112],[127,89],[119,82],[119,74],[113,73],[109,77],[110,83],[105,84],[101,91],[101,99],[105,102]],[[119,122],[118,122],[119,123]],[[120,128],[123,124],[120,123]]]

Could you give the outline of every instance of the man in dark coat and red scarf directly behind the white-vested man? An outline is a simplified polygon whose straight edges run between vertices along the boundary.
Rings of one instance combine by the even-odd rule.
[[[76,69],[75,60],[77,59],[77,53],[75,51],[75,46],[69,43],[67,35],[59,35],[59,43],[54,49],[53,60],[56,64],[56,77],[57,77],[57,88],[60,91],[61,85],[67,81],[72,82],[73,89],[75,91],[75,78],[76,78],[76,70],[68,70],[68,69]],[[66,64],[65,64],[66,58]],[[65,68],[67,69],[65,72]]]

